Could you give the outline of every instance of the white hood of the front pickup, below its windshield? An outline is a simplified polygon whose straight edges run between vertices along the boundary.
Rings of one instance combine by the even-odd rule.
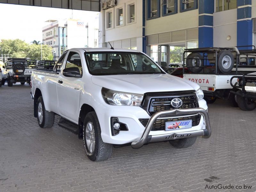
[[[169,74],[131,74],[92,76],[92,83],[120,92],[144,94],[197,90],[199,85]]]

